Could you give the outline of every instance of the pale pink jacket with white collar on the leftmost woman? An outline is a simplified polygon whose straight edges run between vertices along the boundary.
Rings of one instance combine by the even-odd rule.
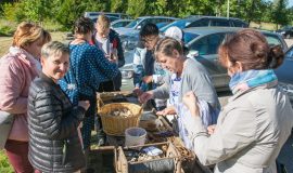
[[[0,109],[15,115],[9,139],[28,142],[27,96],[38,66],[30,54],[17,48],[0,59]]]

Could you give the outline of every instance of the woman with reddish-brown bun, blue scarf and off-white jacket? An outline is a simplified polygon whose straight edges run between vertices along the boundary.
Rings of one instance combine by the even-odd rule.
[[[220,45],[219,61],[231,77],[233,96],[211,135],[198,116],[198,93],[183,97],[192,114],[186,125],[201,163],[216,163],[216,173],[277,172],[276,159],[293,127],[289,97],[273,72],[283,58],[279,45],[269,48],[266,38],[253,29],[231,35]]]

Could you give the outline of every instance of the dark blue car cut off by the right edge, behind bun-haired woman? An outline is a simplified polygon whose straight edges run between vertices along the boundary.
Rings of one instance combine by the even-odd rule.
[[[277,68],[276,75],[278,77],[279,85],[288,94],[291,104],[293,105],[293,45],[285,52],[283,64]]]

